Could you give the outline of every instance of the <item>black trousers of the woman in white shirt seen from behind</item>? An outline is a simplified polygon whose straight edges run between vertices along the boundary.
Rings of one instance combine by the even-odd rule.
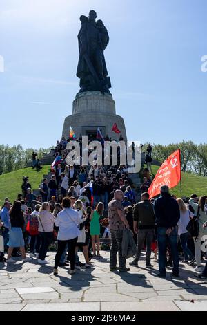
[[[59,266],[59,261],[61,256],[68,244],[68,254],[70,255],[70,268],[71,270],[75,269],[75,248],[77,245],[77,237],[74,239],[69,239],[68,241],[57,241],[57,253],[55,255],[55,268]]]

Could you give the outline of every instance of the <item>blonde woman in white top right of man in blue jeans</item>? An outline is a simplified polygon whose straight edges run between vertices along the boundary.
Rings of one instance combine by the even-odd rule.
[[[195,261],[195,256],[193,255],[193,252],[188,248],[188,231],[186,230],[186,227],[190,221],[191,218],[193,218],[193,213],[190,212],[190,210],[187,209],[184,201],[181,198],[177,198],[177,203],[179,204],[179,210],[180,210],[180,219],[177,223],[178,225],[178,235],[179,239],[181,241],[181,247],[184,251],[184,262],[188,262],[188,257],[190,258],[190,264]]]

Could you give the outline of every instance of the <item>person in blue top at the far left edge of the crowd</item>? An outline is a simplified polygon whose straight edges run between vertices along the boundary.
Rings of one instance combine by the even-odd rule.
[[[10,215],[9,215],[9,210],[10,207],[12,206],[12,203],[6,201],[3,205],[3,208],[0,212],[0,219],[1,222],[3,223],[3,228],[1,228],[1,232],[3,235],[3,242],[4,242],[4,249],[8,247],[8,239],[9,239],[9,231],[10,231]],[[0,253],[0,261],[5,261],[3,252]]]

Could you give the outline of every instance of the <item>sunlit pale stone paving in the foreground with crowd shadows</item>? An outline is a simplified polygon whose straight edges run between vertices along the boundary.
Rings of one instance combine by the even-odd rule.
[[[193,268],[181,263],[180,277],[156,277],[155,268],[147,270],[142,257],[140,268],[130,272],[109,271],[109,252],[93,259],[94,270],[77,270],[69,275],[59,268],[52,273],[54,252],[48,253],[47,266],[32,263],[0,264],[0,310],[133,311],[133,310],[207,310],[207,282],[194,277]],[[81,256],[82,259],[82,256]],[[17,259],[18,260],[18,259]],[[128,262],[132,259],[128,259]],[[83,260],[82,260],[83,261]]]

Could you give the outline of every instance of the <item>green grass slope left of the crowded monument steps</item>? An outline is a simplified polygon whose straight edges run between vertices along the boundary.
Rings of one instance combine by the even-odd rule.
[[[48,174],[49,169],[50,166],[46,165],[43,166],[41,171],[37,172],[29,167],[0,175],[0,205],[2,205],[6,197],[13,202],[17,198],[17,194],[21,193],[23,176],[29,177],[29,182],[32,185],[32,189],[39,189],[39,184],[43,179],[43,175]]]

